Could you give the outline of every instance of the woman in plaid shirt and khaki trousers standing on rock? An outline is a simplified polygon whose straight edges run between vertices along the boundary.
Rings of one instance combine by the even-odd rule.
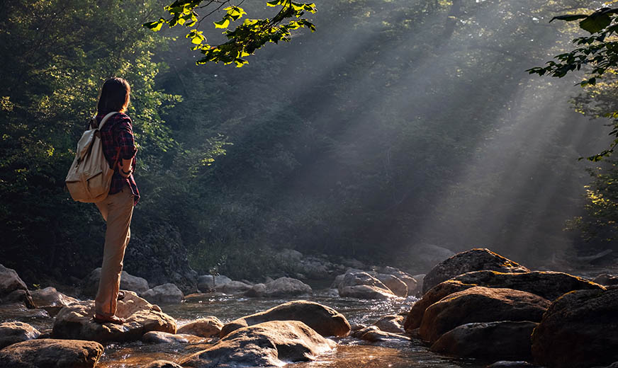
[[[97,115],[91,122],[93,127],[99,126],[103,117],[117,112],[108,118],[99,131],[103,154],[110,167],[118,162],[118,166],[114,168],[108,196],[95,203],[107,223],[101,280],[94,299],[94,321],[100,323],[124,323],[123,318],[116,316],[116,304],[125,248],[131,233],[129,226],[133,206],[140,199],[140,192],[133,179],[137,148],[131,119],[125,114],[130,91],[131,88],[124,79],[111,78],[105,81],[96,107]]]

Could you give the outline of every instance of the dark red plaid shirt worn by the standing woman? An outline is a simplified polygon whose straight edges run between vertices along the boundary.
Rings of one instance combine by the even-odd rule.
[[[106,114],[96,115],[97,124],[103,120]],[[120,148],[120,159],[133,159],[131,166],[135,169],[135,153],[137,153],[137,147],[135,146],[135,139],[133,138],[133,125],[131,125],[131,118],[123,113],[112,115],[108,118],[103,128],[100,130],[101,143],[103,144],[103,154],[107,159],[109,166],[111,167],[116,161],[116,152]],[[120,161],[121,162],[121,161]],[[109,188],[109,194],[116,194],[123,190],[125,185],[129,185],[131,192],[133,193],[133,203],[137,205],[137,201],[140,200],[140,191],[137,190],[137,184],[133,174],[128,178],[124,178],[120,175],[118,170],[113,173],[111,178],[111,187]]]

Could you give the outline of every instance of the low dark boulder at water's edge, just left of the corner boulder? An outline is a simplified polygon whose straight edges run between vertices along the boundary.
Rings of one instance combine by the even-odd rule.
[[[456,357],[529,360],[530,335],[538,323],[498,321],[466,323],[444,333],[432,345],[432,352]]]

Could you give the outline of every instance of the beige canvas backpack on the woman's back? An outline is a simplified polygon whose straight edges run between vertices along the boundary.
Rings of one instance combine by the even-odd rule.
[[[89,129],[82,134],[82,138],[77,142],[77,154],[75,154],[67,178],[64,180],[71,197],[77,202],[100,202],[106,199],[108,195],[111,177],[119,155],[116,154],[116,162],[112,168],[109,168],[109,163],[103,155],[103,144],[99,130],[114,114],[117,113],[105,115],[99,127],[93,128],[89,125]]]

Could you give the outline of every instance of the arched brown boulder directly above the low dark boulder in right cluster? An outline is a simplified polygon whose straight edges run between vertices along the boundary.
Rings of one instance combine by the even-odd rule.
[[[447,331],[472,322],[541,321],[550,302],[514,289],[471,287],[450,294],[425,310],[419,335],[434,343]]]

